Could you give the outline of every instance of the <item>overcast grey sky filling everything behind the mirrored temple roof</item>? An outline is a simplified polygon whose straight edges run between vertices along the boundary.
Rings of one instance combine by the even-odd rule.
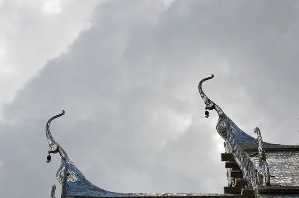
[[[297,0],[0,0],[0,197],[49,197],[45,126],[114,192],[223,193],[216,112],[299,143]]]

